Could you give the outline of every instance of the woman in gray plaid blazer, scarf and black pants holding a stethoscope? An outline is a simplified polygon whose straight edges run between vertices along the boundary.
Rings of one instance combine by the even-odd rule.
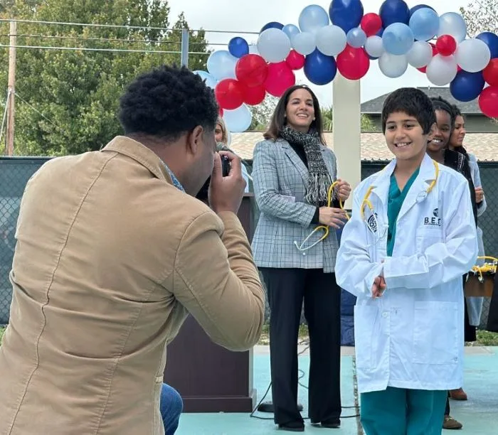
[[[260,209],[253,254],[271,311],[275,424],[304,431],[297,405],[297,336],[304,301],[310,345],[309,417],[312,424],[339,427],[341,290],[334,276],[335,229],[346,220],[338,200],[349,198],[351,188],[337,180],[336,158],[325,144],[319,102],[309,87],[293,86],[282,95],[264,137],[255,146],[253,160]],[[327,233],[313,232],[317,225]]]

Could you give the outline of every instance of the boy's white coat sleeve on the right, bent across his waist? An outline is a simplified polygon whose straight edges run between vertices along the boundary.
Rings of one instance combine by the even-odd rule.
[[[431,245],[423,254],[386,257],[383,276],[387,289],[430,289],[462,276],[474,266],[477,232],[467,181],[462,179],[445,199],[445,242]]]

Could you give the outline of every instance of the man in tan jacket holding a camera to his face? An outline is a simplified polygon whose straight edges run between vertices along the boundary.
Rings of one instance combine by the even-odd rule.
[[[1,435],[160,435],[166,343],[191,313],[246,350],[263,288],[235,215],[240,160],[221,175],[213,92],[185,68],[139,77],[124,136],[48,161],[21,201]],[[194,195],[211,175],[211,208]]]

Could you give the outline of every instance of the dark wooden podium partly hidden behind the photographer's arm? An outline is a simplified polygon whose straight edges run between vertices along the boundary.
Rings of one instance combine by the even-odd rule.
[[[246,193],[238,218],[249,241],[254,232],[254,195]],[[231,352],[214,344],[189,316],[168,346],[164,382],[184,400],[184,412],[252,412],[253,350]]]

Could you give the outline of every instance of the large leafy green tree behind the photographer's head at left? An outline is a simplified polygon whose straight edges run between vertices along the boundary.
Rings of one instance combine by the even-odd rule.
[[[172,30],[164,0],[8,0],[1,18],[66,23],[117,24],[128,27],[18,23],[18,45],[97,50],[18,48],[16,71],[15,152],[58,156],[100,149],[121,134],[119,98],[144,70],[179,64],[184,14]],[[140,26],[141,28],[131,28]],[[0,25],[0,43],[9,44],[9,23]],[[189,67],[206,69],[208,50],[203,31],[189,31]],[[112,50],[137,50],[135,53]],[[143,53],[144,50],[156,53]],[[142,52],[140,52],[142,51]],[[166,53],[157,53],[163,51]],[[8,49],[0,51],[6,90]]]

